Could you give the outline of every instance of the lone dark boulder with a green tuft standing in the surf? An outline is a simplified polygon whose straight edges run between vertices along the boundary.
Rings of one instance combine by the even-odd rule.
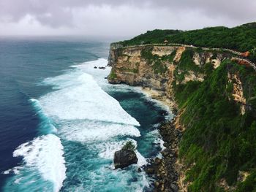
[[[138,158],[135,153],[135,148],[135,145],[131,141],[129,141],[124,145],[124,147],[121,148],[121,150],[115,152],[115,169],[124,168],[131,164],[137,164]]]

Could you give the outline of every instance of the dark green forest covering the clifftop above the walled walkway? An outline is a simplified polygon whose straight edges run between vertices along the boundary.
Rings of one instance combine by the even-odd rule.
[[[209,27],[192,31],[154,30],[140,34],[133,39],[118,44],[142,45],[149,43],[169,43],[195,45],[197,47],[218,47],[252,53],[249,58],[256,61],[256,23],[247,23],[234,28],[224,26]]]

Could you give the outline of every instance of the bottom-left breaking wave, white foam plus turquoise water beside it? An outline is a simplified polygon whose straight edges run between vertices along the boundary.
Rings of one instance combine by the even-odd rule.
[[[66,178],[61,140],[54,134],[23,143],[13,152],[23,163],[4,172],[13,174],[4,191],[59,191]]]

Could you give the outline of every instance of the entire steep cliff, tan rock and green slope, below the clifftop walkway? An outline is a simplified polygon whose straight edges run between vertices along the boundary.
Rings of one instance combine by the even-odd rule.
[[[110,47],[110,83],[157,91],[178,110],[180,191],[256,188],[256,73],[239,59],[193,46]]]

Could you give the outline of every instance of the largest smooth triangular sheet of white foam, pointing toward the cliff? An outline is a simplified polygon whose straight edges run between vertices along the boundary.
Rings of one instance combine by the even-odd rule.
[[[116,99],[99,87],[90,74],[73,72],[66,85],[64,82],[59,82],[63,78],[65,74],[64,77],[48,79],[48,83],[62,87],[39,99],[44,111],[50,117],[61,120],[101,120],[140,126],[135,118],[123,110]]]

